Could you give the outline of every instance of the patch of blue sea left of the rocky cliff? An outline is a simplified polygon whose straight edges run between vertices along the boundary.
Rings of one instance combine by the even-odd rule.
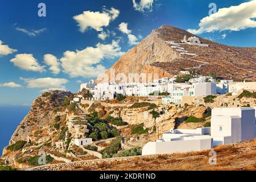
[[[30,106],[0,106],[0,156]]]

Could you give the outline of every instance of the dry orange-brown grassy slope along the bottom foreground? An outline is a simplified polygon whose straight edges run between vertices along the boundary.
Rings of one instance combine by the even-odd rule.
[[[214,148],[217,164],[209,164],[209,150],[168,155],[134,156],[109,160],[56,164],[33,168],[35,171],[255,171],[256,141]]]

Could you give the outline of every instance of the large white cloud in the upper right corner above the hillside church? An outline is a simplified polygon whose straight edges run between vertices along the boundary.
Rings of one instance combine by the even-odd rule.
[[[256,0],[241,3],[238,6],[219,9],[217,13],[200,20],[199,29],[189,29],[192,34],[214,31],[239,31],[256,27]]]

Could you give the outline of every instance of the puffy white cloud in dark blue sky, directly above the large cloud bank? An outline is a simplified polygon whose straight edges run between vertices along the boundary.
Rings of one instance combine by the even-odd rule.
[[[117,18],[118,15],[119,10],[112,7],[111,10],[104,9],[102,13],[99,11],[84,11],[82,14],[73,16],[73,19],[78,23],[81,32],[85,32],[89,27],[96,31],[102,31],[102,27],[109,26],[110,21]]]

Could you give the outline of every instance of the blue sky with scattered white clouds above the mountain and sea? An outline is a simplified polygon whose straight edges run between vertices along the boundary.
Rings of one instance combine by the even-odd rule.
[[[162,24],[230,46],[256,47],[255,0],[140,1],[0,0],[0,105],[30,105],[49,88],[77,92],[81,81],[110,68]],[[38,16],[41,2],[46,17]],[[217,13],[210,19],[212,2]]]

